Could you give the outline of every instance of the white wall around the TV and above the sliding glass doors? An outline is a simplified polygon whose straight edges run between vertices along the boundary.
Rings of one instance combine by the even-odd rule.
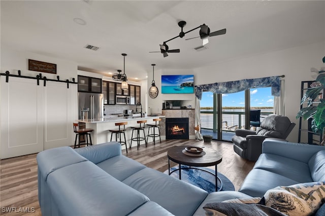
[[[325,55],[324,51],[325,42],[323,41],[307,46],[207,65],[192,70],[157,70],[157,73],[155,71],[155,83],[160,90],[160,76],[169,74],[193,74],[194,85],[285,75],[285,114],[292,122],[297,124],[287,139],[297,142],[299,121],[296,119],[296,115],[300,110],[301,81],[312,80],[311,67],[319,69],[324,66],[321,60]],[[148,75],[148,86],[151,84],[151,80],[152,75],[151,77]],[[178,99],[184,98],[184,95],[173,96]],[[153,110],[161,112],[161,102],[166,97],[159,94],[157,98],[149,99],[149,106],[152,106]],[[187,100],[187,98],[183,100]]]

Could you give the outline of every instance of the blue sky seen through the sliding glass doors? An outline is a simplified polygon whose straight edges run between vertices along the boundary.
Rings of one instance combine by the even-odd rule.
[[[271,87],[250,90],[250,106],[273,106]],[[203,92],[201,107],[213,106],[213,93]],[[245,106],[245,92],[222,94],[222,106]]]

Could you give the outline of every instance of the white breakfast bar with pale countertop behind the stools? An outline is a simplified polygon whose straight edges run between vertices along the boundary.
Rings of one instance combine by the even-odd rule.
[[[147,117],[111,117],[111,118],[101,118],[101,119],[80,119],[79,122],[86,123],[86,128],[90,128],[93,130],[91,133],[92,144],[100,144],[104,142],[110,141],[110,132],[109,130],[116,128],[115,123],[117,122],[127,122],[125,125],[125,136],[127,146],[129,147],[129,143],[131,142],[132,137],[132,126],[138,126],[137,121],[139,120],[147,120],[146,124],[154,124],[153,119],[157,118],[165,118],[163,115],[152,115]],[[147,129],[146,129],[147,135]],[[114,137],[113,137],[114,140]],[[149,139],[150,141],[150,139]],[[134,146],[136,146],[136,142],[134,142]],[[141,143],[145,143],[144,141]],[[125,146],[122,146],[122,149]]]

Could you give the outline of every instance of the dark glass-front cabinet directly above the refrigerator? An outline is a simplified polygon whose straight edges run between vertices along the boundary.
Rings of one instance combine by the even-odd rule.
[[[102,93],[102,79],[78,75],[78,92]]]

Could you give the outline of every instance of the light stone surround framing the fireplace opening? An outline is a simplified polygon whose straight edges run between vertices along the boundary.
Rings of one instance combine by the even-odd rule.
[[[166,118],[188,118],[189,139],[195,139],[195,109],[163,110],[161,114]],[[163,139],[166,139],[166,118],[161,119],[160,122],[160,133]]]

